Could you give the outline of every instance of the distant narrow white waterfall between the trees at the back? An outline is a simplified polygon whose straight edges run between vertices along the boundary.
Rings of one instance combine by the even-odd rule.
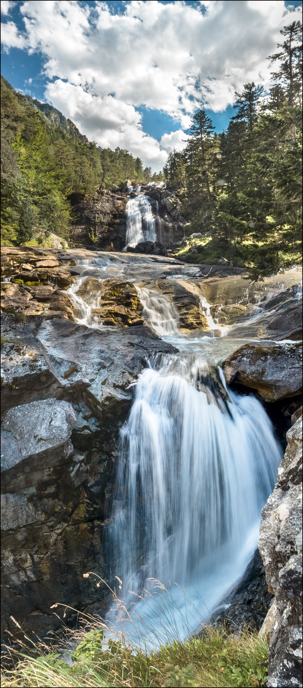
[[[155,241],[155,219],[148,198],[140,194],[126,204],[126,247],[140,241]]]

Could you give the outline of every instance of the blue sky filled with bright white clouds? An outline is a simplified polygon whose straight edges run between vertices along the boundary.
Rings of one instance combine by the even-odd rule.
[[[159,171],[203,107],[216,131],[234,92],[269,87],[296,0],[1,0],[1,74],[102,147]]]

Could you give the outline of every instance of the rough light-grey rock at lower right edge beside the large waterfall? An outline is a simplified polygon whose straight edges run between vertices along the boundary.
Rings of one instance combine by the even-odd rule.
[[[302,686],[302,408],[300,412],[287,433],[278,483],[262,509],[258,540],[275,595],[260,630],[269,642],[269,687]]]

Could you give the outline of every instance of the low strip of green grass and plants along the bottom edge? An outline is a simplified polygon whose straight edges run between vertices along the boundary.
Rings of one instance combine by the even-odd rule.
[[[100,627],[100,622],[98,623]],[[131,647],[123,634],[109,639],[96,627],[78,634],[69,666],[60,652],[15,653],[12,669],[1,672],[1,686],[263,686],[267,679],[268,646],[264,636],[228,635],[223,627],[205,627],[203,636],[173,641],[146,654]],[[69,636],[69,642],[72,640]],[[74,638],[76,639],[76,637]],[[101,644],[102,643],[102,644]],[[70,647],[70,645],[69,645]],[[32,654],[32,656],[31,656]]]

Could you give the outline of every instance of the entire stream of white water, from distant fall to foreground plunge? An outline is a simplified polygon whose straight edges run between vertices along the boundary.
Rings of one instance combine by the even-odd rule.
[[[130,199],[126,210],[126,243],[155,240],[146,196]],[[143,257],[129,257],[123,268],[122,259],[116,266],[113,259],[107,265],[98,258],[90,264],[78,261],[83,270],[67,292],[80,310],[78,322],[102,327],[92,317],[97,295],[90,295],[89,304],[77,296],[82,281],[91,274],[121,279],[125,267],[124,279],[136,285],[136,261],[144,267]],[[155,579],[175,605],[173,634],[184,637],[197,630],[256,549],[261,509],[273,489],[282,449],[260,402],[228,390],[216,365],[249,339],[229,337],[229,328],[212,319],[205,297],[201,310],[210,330],[180,334],[168,297],[136,288],[146,323],[180,353],[150,358],[137,381],[120,432],[106,541],[113,553],[111,573],[122,579],[129,613],[155,647],[168,637],[169,625],[167,609],[155,596]],[[265,294],[250,321],[278,309],[277,303],[274,292]],[[227,336],[221,336],[223,330]],[[161,586],[160,592],[165,597]]]

